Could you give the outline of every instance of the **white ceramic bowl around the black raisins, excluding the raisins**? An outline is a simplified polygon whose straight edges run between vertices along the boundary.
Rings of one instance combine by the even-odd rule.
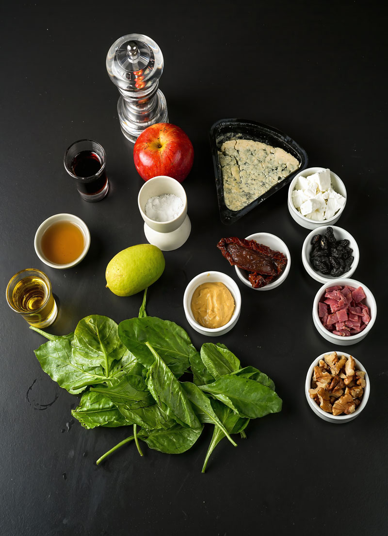
[[[322,272],[315,271],[313,266],[311,266],[311,263],[310,263],[310,251],[312,249],[311,239],[316,234],[324,235],[328,227],[332,227],[336,240],[347,239],[349,241],[349,247],[353,249],[352,255],[354,259],[353,259],[351,269],[348,272],[344,272],[341,277],[349,278],[353,276],[355,269],[357,265],[359,264],[359,260],[360,260],[360,251],[359,251],[357,242],[354,240],[353,236],[347,232],[347,230],[341,227],[335,227],[334,225],[331,225],[331,226],[323,225],[322,227],[317,227],[306,236],[305,242],[303,242],[302,263],[303,263],[303,266],[305,266],[306,272],[309,274],[309,276],[311,276],[316,281],[319,281],[320,283],[330,283],[331,281],[333,281],[333,279],[338,279],[338,277],[334,278],[333,276],[330,276],[330,274],[324,275]]]

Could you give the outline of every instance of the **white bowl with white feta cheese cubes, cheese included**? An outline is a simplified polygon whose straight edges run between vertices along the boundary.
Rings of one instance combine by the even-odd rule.
[[[296,223],[306,229],[335,224],[345,205],[345,185],[327,168],[303,169],[288,188],[288,211]]]

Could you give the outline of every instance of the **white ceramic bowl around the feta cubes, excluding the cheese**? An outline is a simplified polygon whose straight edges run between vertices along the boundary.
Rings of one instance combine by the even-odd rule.
[[[293,220],[295,220],[297,224],[301,225],[302,227],[305,227],[306,229],[316,229],[317,227],[321,227],[322,225],[335,224],[339,220],[341,214],[343,213],[345,209],[346,199],[347,199],[345,184],[341,181],[338,175],[332,172],[332,170],[330,170],[331,185],[332,185],[333,190],[335,190],[337,193],[340,193],[341,196],[345,197],[344,206],[341,207],[339,211],[333,215],[332,218],[329,218],[323,221],[310,220],[309,218],[306,218],[305,216],[303,216],[299,212],[298,209],[295,209],[294,204],[292,202],[292,192],[295,188],[296,181],[298,181],[298,178],[301,176],[308,177],[309,175],[313,175],[314,173],[323,171],[324,169],[326,168],[313,167],[313,168],[303,169],[300,173],[298,173],[298,175],[295,175],[295,177],[290,183],[290,186],[288,187],[288,198],[287,198],[288,212],[290,212]]]

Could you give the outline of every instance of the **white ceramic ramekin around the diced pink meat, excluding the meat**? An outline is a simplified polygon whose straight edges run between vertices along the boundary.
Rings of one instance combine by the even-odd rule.
[[[355,288],[358,288],[358,287],[363,288],[363,291],[366,295],[366,299],[364,300],[364,302],[367,304],[367,306],[370,309],[370,322],[364,330],[360,331],[360,333],[350,335],[349,337],[341,337],[340,335],[334,335],[331,331],[326,330],[326,328],[323,327],[321,318],[319,318],[318,316],[318,302],[324,296],[326,288],[333,287],[336,285],[340,285],[340,286],[349,285]],[[357,281],[355,279],[332,279],[330,282],[326,282],[315,295],[314,304],[313,304],[314,325],[318,333],[322,335],[324,339],[328,340],[332,344],[337,344],[340,346],[351,346],[353,344],[359,343],[360,340],[364,339],[368,335],[369,331],[372,328],[372,325],[376,321],[376,315],[377,315],[377,305],[376,305],[376,300],[374,298],[374,295],[370,292],[369,288],[366,285],[364,285],[363,283],[360,283],[360,281]]]

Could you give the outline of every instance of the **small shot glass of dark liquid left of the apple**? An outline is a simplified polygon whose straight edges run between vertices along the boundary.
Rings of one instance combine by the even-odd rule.
[[[63,159],[65,169],[77,181],[82,199],[100,201],[109,190],[105,174],[106,154],[102,145],[92,139],[80,139],[67,148]]]

